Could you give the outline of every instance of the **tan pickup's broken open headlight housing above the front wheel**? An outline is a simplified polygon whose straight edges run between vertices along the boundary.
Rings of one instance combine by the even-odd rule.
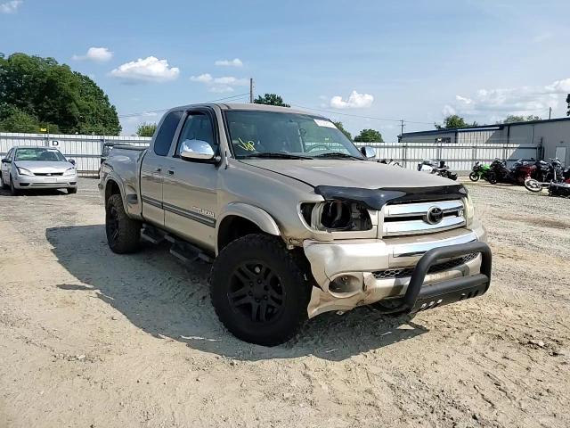
[[[304,202],[300,209],[305,223],[314,230],[349,232],[372,228],[368,210],[357,202]]]

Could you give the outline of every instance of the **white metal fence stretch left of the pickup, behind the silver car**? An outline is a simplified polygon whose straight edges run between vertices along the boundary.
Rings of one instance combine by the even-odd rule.
[[[144,136],[78,136],[0,132],[0,154],[4,157],[12,147],[20,145],[56,147],[68,159],[76,161],[80,175],[89,176],[97,174],[99,170],[103,144],[147,146],[150,141],[151,138]]]

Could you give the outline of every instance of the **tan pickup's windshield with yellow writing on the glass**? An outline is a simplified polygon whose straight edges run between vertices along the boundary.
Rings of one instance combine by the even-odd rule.
[[[329,119],[275,111],[226,111],[225,116],[237,158],[363,159]]]

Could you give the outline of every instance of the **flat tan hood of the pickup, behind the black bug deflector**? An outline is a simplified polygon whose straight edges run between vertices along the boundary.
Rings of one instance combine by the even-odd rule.
[[[372,161],[252,159],[243,162],[314,187],[327,185],[379,189],[457,185],[448,178]]]

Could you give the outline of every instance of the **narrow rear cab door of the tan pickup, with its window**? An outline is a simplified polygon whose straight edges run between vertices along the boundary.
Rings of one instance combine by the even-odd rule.
[[[159,123],[152,147],[142,158],[141,165],[141,200],[142,218],[157,226],[164,226],[163,184],[165,162],[178,127],[181,124],[183,111],[168,111]]]

